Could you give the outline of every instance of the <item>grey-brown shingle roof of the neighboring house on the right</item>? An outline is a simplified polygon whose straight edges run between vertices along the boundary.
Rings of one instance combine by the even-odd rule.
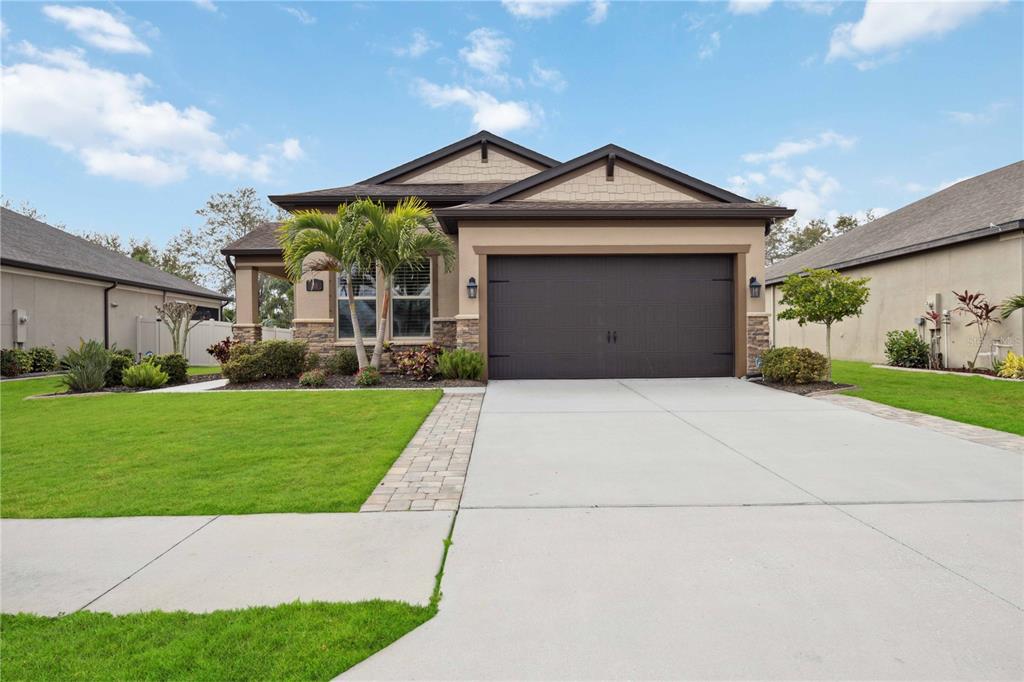
[[[1024,228],[1024,161],[957,182],[768,267],[767,284]]]

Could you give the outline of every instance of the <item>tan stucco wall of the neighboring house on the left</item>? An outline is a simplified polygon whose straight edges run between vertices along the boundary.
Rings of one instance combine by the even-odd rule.
[[[12,311],[29,314],[24,346],[48,346],[58,354],[78,346],[79,339],[103,340],[103,289],[110,285],[20,268],[0,268],[0,345],[14,343]],[[169,292],[168,300],[180,300],[219,308],[220,301]],[[119,348],[136,348],[136,317],[153,318],[164,294],[153,289],[118,286],[111,290],[110,341]]]

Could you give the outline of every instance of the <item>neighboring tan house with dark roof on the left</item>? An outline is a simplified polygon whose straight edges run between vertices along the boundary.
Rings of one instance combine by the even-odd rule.
[[[153,319],[163,301],[188,301],[198,317],[220,319],[230,299],[0,209],[0,345],[60,354],[79,339],[139,351],[138,317]]]

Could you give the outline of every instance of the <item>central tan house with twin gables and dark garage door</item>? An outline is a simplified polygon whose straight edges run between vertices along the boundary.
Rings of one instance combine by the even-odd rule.
[[[396,346],[478,349],[493,379],[741,376],[767,347],[750,281],[764,280],[765,235],[788,209],[615,145],[559,163],[486,131],[357,184],[270,200],[334,211],[364,197],[423,199],[458,247],[452,272],[435,258],[399,273],[386,330]],[[284,273],[273,229],[223,249],[239,338],[260,338],[258,272]],[[371,336],[384,300],[373,273],[356,294]],[[303,278],[294,329],[319,352],[352,343],[338,278]]]

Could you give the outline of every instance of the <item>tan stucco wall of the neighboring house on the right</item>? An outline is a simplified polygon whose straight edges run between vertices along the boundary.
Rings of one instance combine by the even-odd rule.
[[[856,319],[833,329],[833,356],[884,363],[886,332],[918,329],[914,319],[927,310],[929,298],[939,295],[940,308],[952,310],[956,299],[952,291],[982,291],[992,303],[1024,290],[1024,239],[1022,232],[968,242],[889,261],[852,267],[843,271],[850,276],[869,276],[871,296],[864,312]],[[782,296],[778,287],[766,291],[771,311],[772,341],[776,346],[805,346],[824,351],[824,328],[774,318],[774,307]],[[974,356],[978,336],[974,327],[965,327],[969,318],[953,314],[949,338],[949,367],[964,367]],[[926,328],[927,329],[927,328]],[[1024,353],[1024,318],[1020,311],[1000,325],[993,325],[989,341],[1000,339],[1014,352]],[[982,352],[989,352],[986,342]],[[1002,351],[1006,352],[1005,350]],[[989,356],[979,357],[987,367]]]

